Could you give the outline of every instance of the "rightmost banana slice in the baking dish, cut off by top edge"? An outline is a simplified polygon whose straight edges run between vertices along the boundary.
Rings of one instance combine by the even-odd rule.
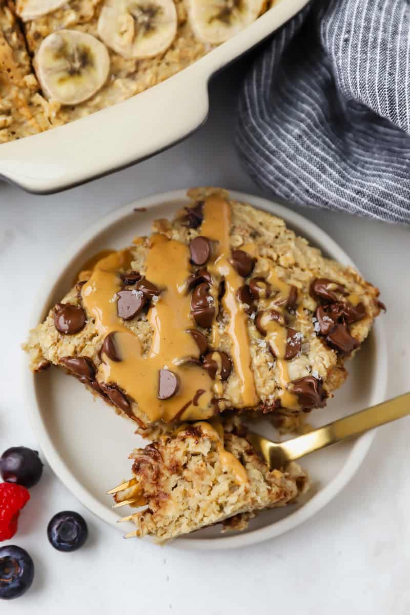
[[[218,45],[256,20],[265,0],[188,0],[189,23],[200,41]]]

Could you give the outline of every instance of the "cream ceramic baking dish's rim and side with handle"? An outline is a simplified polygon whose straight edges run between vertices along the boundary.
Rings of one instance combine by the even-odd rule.
[[[181,141],[207,119],[210,77],[277,30],[307,2],[280,0],[210,54],[119,105],[0,145],[0,176],[28,191],[46,194],[141,161]]]

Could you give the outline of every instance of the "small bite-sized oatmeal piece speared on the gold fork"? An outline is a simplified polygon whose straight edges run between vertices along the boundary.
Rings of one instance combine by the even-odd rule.
[[[114,496],[117,504],[144,506],[125,517],[136,526],[127,538],[148,534],[164,542],[221,522],[243,530],[260,510],[306,493],[309,480],[298,464],[269,471],[244,435],[242,427],[224,431],[221,423],[200,421],[133,451],[133,479],[125,483],[132,486]]]

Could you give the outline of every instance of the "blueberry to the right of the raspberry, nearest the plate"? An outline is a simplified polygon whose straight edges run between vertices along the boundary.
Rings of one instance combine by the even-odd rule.
[[[58,551],[75,551],[87,540],[87,523],[77,512],[64,510],[54,515],[47,527],[47,536]]]

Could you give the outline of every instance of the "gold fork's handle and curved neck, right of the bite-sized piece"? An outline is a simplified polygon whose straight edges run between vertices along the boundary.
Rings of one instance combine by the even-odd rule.
[[[262,454],[271,470],[280,469],[288,462],[300,459],[313,451],[363,434],[369,429],[391,423],[406,415],[410,415],[410,393],[393,397],[387,402],[355,412],[353,415],[345,416],[338,421],[285,442],[272,442],[253,433],[246,435],[246,440],[250,441],[254,450]]]

